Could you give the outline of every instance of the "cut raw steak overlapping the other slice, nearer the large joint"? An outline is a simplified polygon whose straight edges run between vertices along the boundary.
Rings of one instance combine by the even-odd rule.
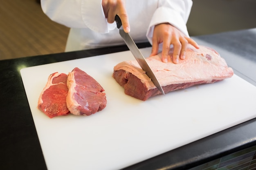
[[[106,107],[106,94],[90,75],[74,68],[68,74],[67,108],[74,115],[91,115]]]

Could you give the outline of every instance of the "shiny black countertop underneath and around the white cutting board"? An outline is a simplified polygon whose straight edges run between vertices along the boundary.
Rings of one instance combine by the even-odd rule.
[[[254,67],[225,58],[237,75],[256,85],[256,29],[203,35],[195,37],[195,40],[200,42],[199,44],[216,47],[221,55],[231,52],[238,55],[237,60],[241,59],[245,63],[249,61]],[[143,43],[138,46],[143,48],[150,44]],[[22,84],[21,68],[126,50],[126,46],[115,46],[0,61],[0,169],[47,169]],[[255,129],[256,119],[252,119],[124,170],[192,168],[232,152],[256,146]]]

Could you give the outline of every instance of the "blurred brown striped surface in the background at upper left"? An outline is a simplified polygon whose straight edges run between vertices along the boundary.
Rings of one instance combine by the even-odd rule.
[[[1,0],[0,60],[64,52],[68,32],[36,0]]]

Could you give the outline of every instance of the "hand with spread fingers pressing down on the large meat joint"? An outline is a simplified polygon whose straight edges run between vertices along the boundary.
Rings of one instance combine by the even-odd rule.
[[[162,62],[168,62],[170,45],[173,44],[173,62],[184,60],[187,44],[199,49],[198,44],[189,37],[186,37],[179,29],[169,23],[162,23],[155,26],[152,38],[152,51],[150,56],[157,55],[159,44],[163,43]]]

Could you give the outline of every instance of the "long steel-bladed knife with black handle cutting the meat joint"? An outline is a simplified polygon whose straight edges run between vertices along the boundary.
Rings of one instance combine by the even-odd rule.
[[[157,89],[162,94],[164,94],[164,90],[163,90],[162,86],[159,84],[159,81],[157,80],[157,77],[155,77],[155,74],[153,73],[152,69],[148,65],[148,62],[146,61],[146,59],[143,57],[143,55],[139,51],[137,45],[132,40],[129,33],[124,32],[121,19],[119,18],[118,15],[115,16],[115,21],[117,22],[117,28],[119,29],[119,34],[124,39],[124,42],[126,43],[128,48],[132,52],[132,55],[135,57],[135,59],[139,63],[139,66],[141,66],[142,70],[144,70],[146,72],[146,75],[148,75],[148,77],[152,80],[152,82],[155,84]]]

